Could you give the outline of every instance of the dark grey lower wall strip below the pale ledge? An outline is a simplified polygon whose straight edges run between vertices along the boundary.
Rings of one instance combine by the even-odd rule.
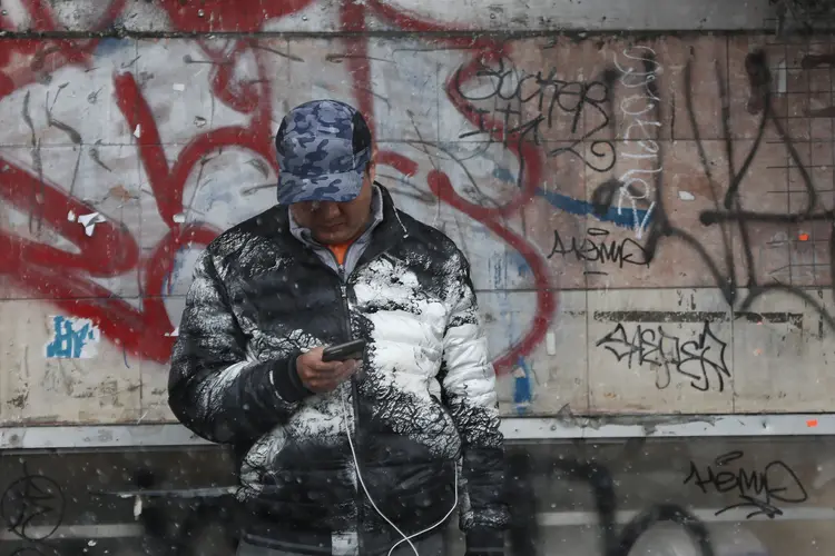
[[[835,547],[829,438],[508,451],[509,556],[829,556]],[[205,497],[235,484],[230,459],[217,447],[0,454],[0,556],[230,556],[247,516],[228,495]],[[676,519],[707,529],[713,552]],[[446,554],[463,554],[455,520],[448,535]]]

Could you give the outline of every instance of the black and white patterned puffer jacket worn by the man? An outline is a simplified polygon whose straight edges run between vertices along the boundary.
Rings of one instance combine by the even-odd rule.
[[[200,437],[234,447],[238,499],[258,538],[353,530],[386,545],[401,537],[360,478],[411,535],[450,512],[458,476],[468,545],[500,545],[503,439],[469,264],[442,232],[396,210],[385,188],[379,195],[382,221],[350,272],[294,237],[281,206],[206,248],[169,405]],[[354,378],[326,395],[301,385],[301,353],[355,338],[367,345]]]

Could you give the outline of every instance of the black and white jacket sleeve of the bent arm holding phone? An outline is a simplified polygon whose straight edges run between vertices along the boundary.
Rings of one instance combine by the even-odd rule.
[[[295,356],[269,361],[247,357],[246,338],[205,250],[171,355],[168,405],[174,414],[207,440],[253,441],[287,419],[307,394],[295,373]]]

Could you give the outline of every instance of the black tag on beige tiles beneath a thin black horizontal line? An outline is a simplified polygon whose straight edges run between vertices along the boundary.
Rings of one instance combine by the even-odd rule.
[[[618,361],[626,359],[630,369],[632,365],[655,368],[658,389],[670,385],[674,373],[689,378],[690,386],[699,391],[707,391],[713,385],[717,391],[725,391],[725,379],[730,378],[725,363],[728,345],[716,337],[707,321],[698,337],[687,341],[669,334],[661,325],[638,325],[632,334],[628,334],[623,325],[618,322],[613,330],[595,345],[602,346]]]

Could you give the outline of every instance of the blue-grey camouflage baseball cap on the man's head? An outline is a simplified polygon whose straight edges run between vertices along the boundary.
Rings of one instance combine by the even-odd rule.
[[[278,202],[345,202],[360,195],[371,131],[355,108],[313,100],[291,110],[275,136]]]

